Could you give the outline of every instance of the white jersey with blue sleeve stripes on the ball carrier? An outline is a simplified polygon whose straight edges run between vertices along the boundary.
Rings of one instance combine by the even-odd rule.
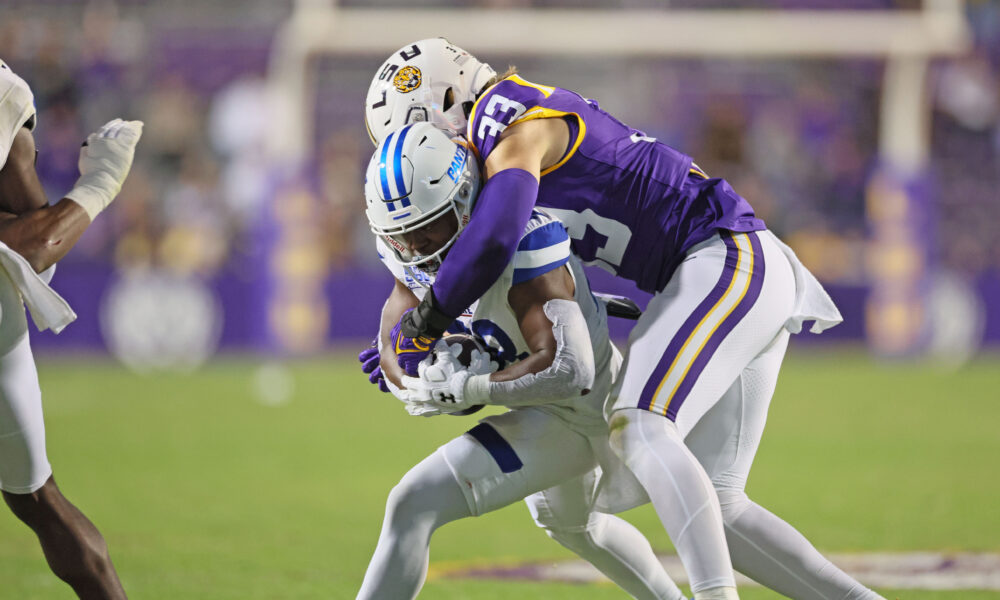
[[[396,263],[381,240],[378,241],[378,253],[393,276],[403,282],[417,298],[423,298],[427,287],[434,283],[434,276]],[[613,371],[617,369],[617,361],[613,358],[614,350],[608,339],[607,312],[604,304],[598,302],[591,293],[583,268],[571,253],[569,235],[560,221],[543,210],[536,209],[521,236],[514,258],[493,286],[463,313],[460,321],[486,340],[508,363],[527,357],[530,349],[521,335],[507,295],[512,286],[562,265],[569,268],[576,284],[575,300],[580,305],[590,331],[596,376],[593,389],[588,395],[567,398],[538,408],[587,434],[606,434],[603,404],[614,376]]]

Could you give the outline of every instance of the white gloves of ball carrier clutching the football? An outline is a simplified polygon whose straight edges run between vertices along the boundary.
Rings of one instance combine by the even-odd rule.
[[[417,367],[417,377],[403,377],[403,385],[411,392],[409,404],[425,404],[441,412],[457,412],[483,404],[483,398],[472,398],[465,393],[465,383],[473,375],[492,373],[499,365],[489,354],[473,350],[469,366],[464,367],[457,358],[461,353],[461,346],[439,341],[434,347],[433,364],[428,357]]]

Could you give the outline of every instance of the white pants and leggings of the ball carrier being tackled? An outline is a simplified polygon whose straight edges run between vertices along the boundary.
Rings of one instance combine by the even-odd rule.
[[[535,408],[494,415],[441,446],[389,494],[385,520],[358,598],[414,598],[427,573],[434,530],[525,499],[536,523],[634,598],[683,595],[627,522],[595,512],[597,448]]]

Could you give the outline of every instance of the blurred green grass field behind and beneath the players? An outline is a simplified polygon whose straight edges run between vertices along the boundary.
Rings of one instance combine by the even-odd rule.
[[[851,352],[793,354],[750,479],[755,500],[827,551],[1000,550],[1000,359],[946,372]],[[409,417],[356,364],[347,355],[292,363],[294,394],[268,406],[251,360],[145,376],[106,362],[42,362],[56,478],[105,534],[131,597],[354,597],[388,490],[475,423]],[[669,548],[648,507],[626,517]],[[432,563],[569,556],[523,505],[445,527],[432,547]],[[3,510],[0,582],[4,599],[73,597]],[[624,595],[608,585],[432,580],[422,597]],[[741,597],[776,595],[748,588]]]

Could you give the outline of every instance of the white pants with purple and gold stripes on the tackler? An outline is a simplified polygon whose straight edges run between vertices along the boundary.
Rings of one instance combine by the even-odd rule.
[[[689,531],[704,510],[721,518],[736,569],[771,589],[796,600],[878,598],[744,492],[788,345],[786,324],[805,287],[791,260],[767,231],[723,232],[689,252],[629,338],[609,399],[612,447],[642,482],[682,560],[694,545],[687,555],[697,560],[684,560],[692,589],[708,577],[701,561],[718,560],[718,549]],[[683,486],[703,485],[672,464],[679,438],[718,503],[678,501]],[[684,532],[679,543],[673,531]]]

